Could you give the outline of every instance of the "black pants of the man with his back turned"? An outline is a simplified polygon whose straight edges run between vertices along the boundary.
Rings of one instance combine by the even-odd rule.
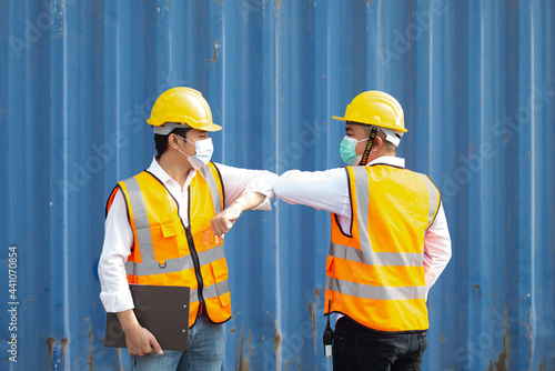
[[[333,332],[333,370],[416,370],[427,349],[426,332],[373,331],[342,317]]]

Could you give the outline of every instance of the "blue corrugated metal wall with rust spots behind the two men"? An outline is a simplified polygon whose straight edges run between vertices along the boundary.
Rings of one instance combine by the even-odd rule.
[[[278,173],[341,166],[331,116],[395,96],[453,238],[424,369],[553,370],[554,20],[552,0],[0,0],[0,368],[128,368],[102,343],[104,201],[150,163],[158,94],[189,86],[224,127],[215,161]],[[226,370],[327,369],[327,243],[304,207],[236,223]]]

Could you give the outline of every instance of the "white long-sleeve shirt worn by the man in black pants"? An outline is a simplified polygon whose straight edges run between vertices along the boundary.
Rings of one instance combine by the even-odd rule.
[[[405,167],[403,158],[392,156],[380,157],[367,166],[377,163]],[[343,168],[326,171],[286,171],[275,182],[274,192],[278,198],[287,203],[304,204],[337,214],[340,225],[344,231],[347,231],[351,225],[349,180]],[[424,235],[426,298],[450,259],[451,237],[443,203],[440,203],[437,215]]]

